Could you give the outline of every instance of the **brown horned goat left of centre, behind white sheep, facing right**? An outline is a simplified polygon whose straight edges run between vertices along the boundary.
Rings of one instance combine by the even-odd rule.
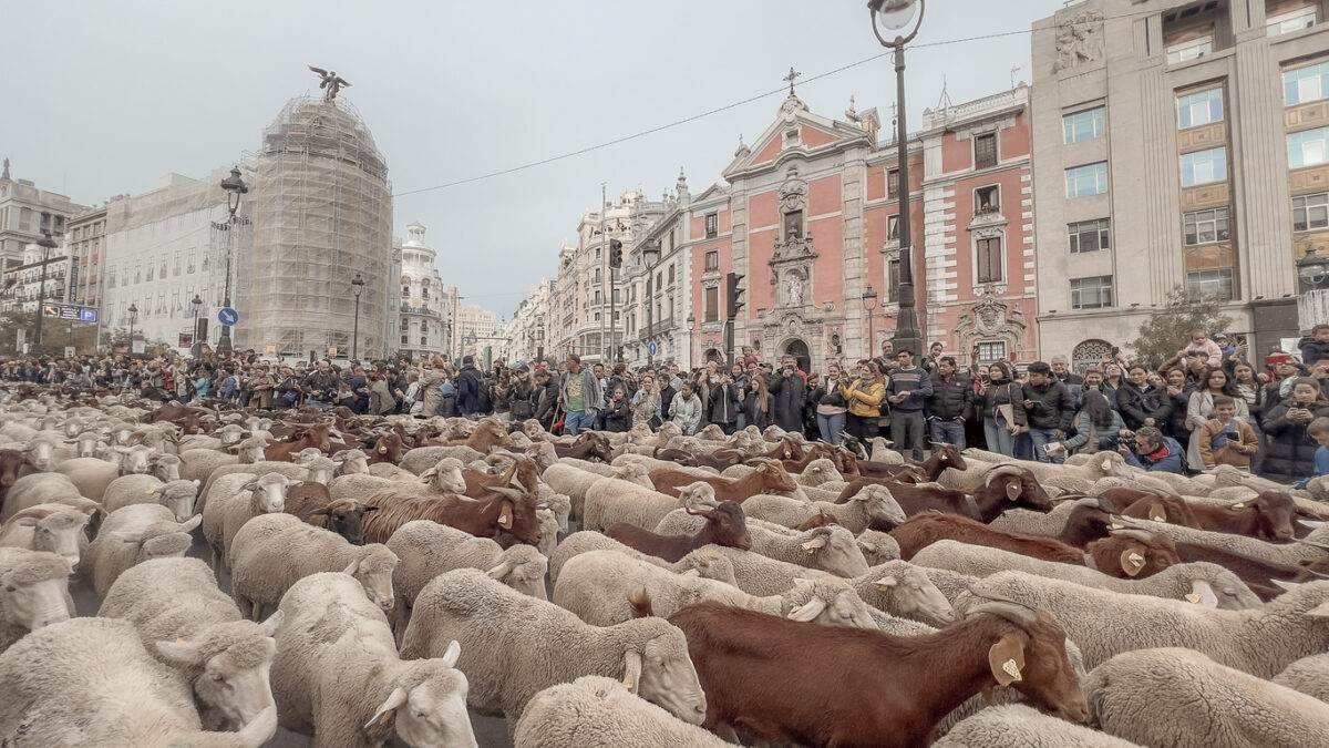
[[[465,530],[476,538],[497,538],[502,532],[510,532],[520,543],[540,544],[536,500],[517,488],[497,486],[478,500],[384,491],[367,503],[379,507],[379,511],[365,515],[361,522],[365,543],[387,543],[403,524],[413,519],[428,519]]]

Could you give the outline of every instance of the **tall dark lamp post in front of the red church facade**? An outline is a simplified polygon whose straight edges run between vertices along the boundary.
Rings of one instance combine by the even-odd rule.
[[[914,20],[914,11],[918,19]],[[893,350],[912,350],[922,354],[922,331],[914,309],[913,290],[913,233],[909,229],[909,129],[905,124],[905,45],[918,35],[922,25],[924,0],[868,0],[872,33],[882,47],[894,52],[896,60],[896,160],[900,169],[900,314],[896,318]],[[889,32],[902,32],[910,24],[913,31],[888,41],[877,24]]]

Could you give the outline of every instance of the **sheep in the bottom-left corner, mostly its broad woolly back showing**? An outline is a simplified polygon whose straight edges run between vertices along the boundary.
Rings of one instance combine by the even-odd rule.
[[[259,748],[268,707],[239,732],[205,732],[185,680],[144,650],[133,624],[80,618],[0,655],[0,741],[25,745]]]

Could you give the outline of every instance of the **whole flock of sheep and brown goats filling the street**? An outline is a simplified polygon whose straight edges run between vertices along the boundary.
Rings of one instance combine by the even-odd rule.
[[[266,415],[0,403],[0,745],[1329,745],[1325,479]]]

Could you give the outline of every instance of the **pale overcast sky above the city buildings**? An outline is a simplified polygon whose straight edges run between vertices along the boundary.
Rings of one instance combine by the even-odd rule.
[[[914,44],[1027,32],[1062,0],[932,0]],[[397,236],[428,226],[444,281],[510,315],[578,217],[641,186],[653,200],[679,166],[694,194],[720,180],[739,133],[775,118],[789,67],[799,97],[844,118],[877,106],[889,126],[889,59],[863,0],[537,3],[0,0],[0,156],[15,178],[93,205],[201,177],[256,150],[306,65],[351,81],[397,193],[541,161],[767,92],[756,101],[591,153],[400,196]],[[910,129],[942,83],[960,104],[1031,80],[1029,33],[908,55]]]

